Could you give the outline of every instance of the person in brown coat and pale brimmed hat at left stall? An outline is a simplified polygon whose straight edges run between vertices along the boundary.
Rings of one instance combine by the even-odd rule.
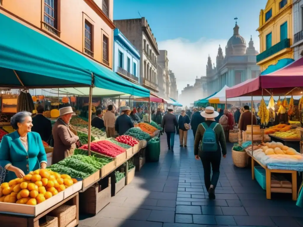
[[[52,134],[54,138],[54,151],[52,164],[72,156],[76,148],[76,142],[79,137],[70,130],[69,121],[72,118],[72,107],[63,107],[59,109],[60,116],[53,126]]]

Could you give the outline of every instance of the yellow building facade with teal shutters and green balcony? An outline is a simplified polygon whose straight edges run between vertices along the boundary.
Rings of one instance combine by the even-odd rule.
[[[283,58],[293,58],[293,0],[268,0],[259,16],[260,54],[257,65],[261,72]]]

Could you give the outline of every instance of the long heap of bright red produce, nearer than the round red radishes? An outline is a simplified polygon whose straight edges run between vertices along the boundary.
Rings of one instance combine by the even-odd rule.
[[[85,144],[80,149],[88,149],[88,145]],[[126,150],[108,140],[100,140],[98,142],[91,143],[91,150],[99,154],[103,154],[109,157],[116,157],[117,155],[125,152]]]

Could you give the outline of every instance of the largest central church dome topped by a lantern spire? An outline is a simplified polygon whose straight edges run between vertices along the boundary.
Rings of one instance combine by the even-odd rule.
[[[226,55],[245,55],[246,53],[246,41],[239,34],[239,26],[234,27],[234,35],[227,42]]]

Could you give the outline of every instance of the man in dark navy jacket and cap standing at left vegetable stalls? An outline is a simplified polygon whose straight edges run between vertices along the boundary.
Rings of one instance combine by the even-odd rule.
[[[115,130],[118,132],[119,136],[122,136],[128,129],[134,127],[134,124],[129,117],[131,109],[129,107],[121,107],[121,111],[121,115],[117,118],[115,123]]]

